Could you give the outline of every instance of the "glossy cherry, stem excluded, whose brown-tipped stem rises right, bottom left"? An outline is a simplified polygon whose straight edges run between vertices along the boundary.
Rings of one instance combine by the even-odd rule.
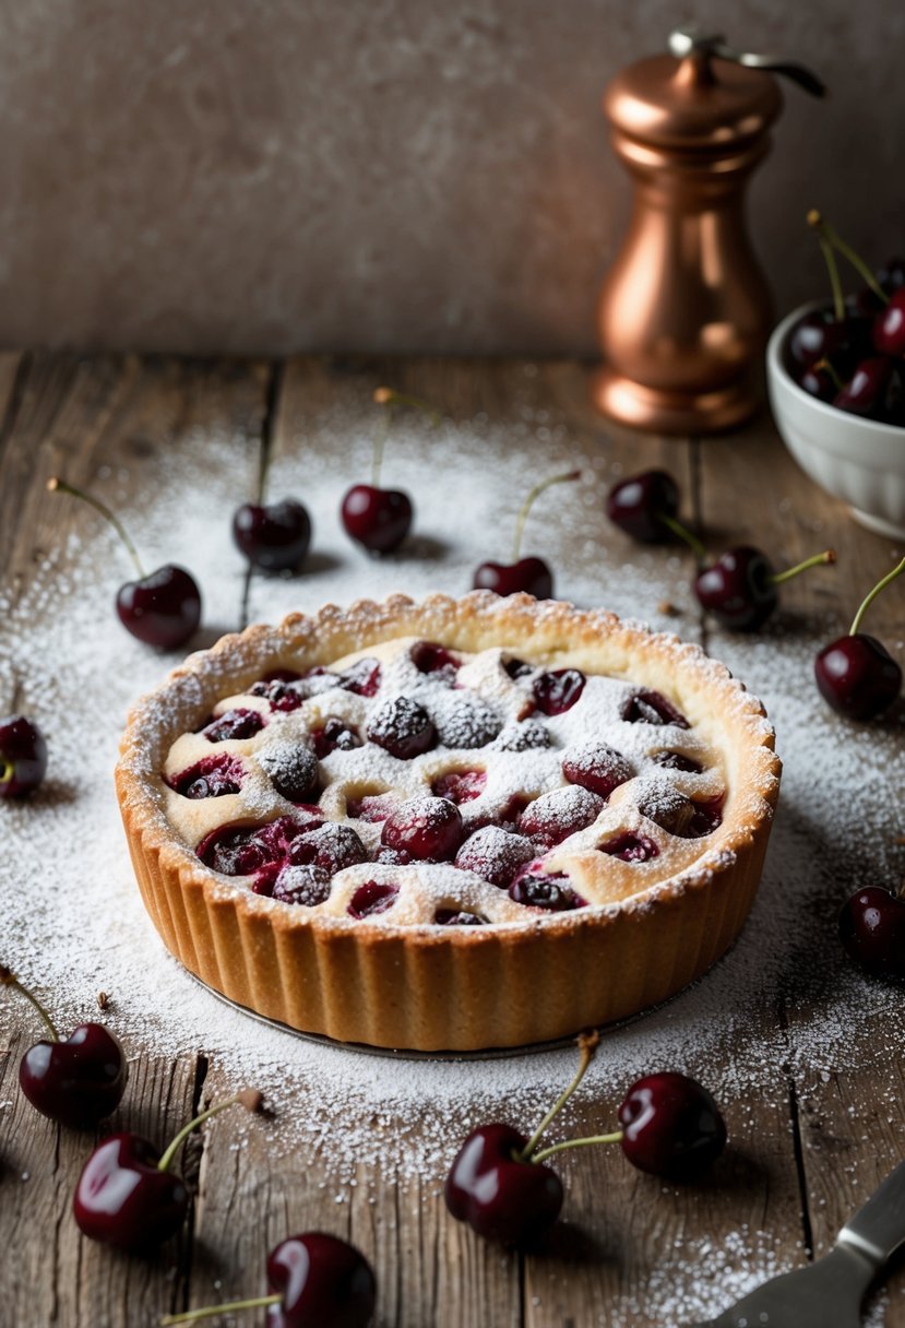
[[[188,1190],[161,1171],[159,1151],[138,1134],[111,1134],[89,1157],[73,1198],[80,1230],[133,1254],[151,1251],[182,1227]]]

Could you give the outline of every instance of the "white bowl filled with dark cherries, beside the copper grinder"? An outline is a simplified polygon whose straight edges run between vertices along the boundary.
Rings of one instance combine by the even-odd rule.
[[[767,386],[776,428],[815,483],[861,525],[905,538],[905,259],[873,272],[819,212],[808,214],[829,272],[829,303],[775,328]],[[859,275],[845,296],[837,259]]]

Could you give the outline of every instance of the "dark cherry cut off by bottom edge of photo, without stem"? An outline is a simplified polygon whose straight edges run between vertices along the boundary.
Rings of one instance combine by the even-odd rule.
[[[267,1286],[283,1296],[268,1312],[271,1328],[368,1328],[377,1283],[354,1246],[309,1231],[289,1236],[267,1259]]]

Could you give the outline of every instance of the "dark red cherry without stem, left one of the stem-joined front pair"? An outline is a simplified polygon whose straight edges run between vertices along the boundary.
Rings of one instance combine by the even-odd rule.
[[[459,1222],[506,1246],[529,1246],[556,1222],[563,1183],[551,1167],[518,1162],[528,1141],[510,1125],[482,1125],[455,1155],[446,1207]]]

